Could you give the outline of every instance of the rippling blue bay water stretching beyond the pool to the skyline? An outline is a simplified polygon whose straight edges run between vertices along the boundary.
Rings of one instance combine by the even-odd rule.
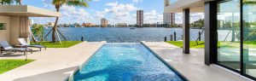
[[[170,35],[173,32],[177,32],[177,40],[182,39],[182,28],[116,28],[116,27],[67,27],[67,28],[58,28],[61,33],[67,38],[67,40],[79,41],[81,37],[84,37],[86,41],[95,42],[95,41],[107,41],[108,43],[134,43],[140,41],[149,41],[149,42],[160,42],[164,41],[166,37],[167,40],[170,40]],[[45,29],[48,32],[50,28]],[[190,29],[190,40],[195,40],[198,38],[198,32],[201,32],[201,29]],[[46,33],[45,32],[45,33]],[[224,31],[228,33],[229,31]],[[46,40],[50,40],[50,36]],[[225,36],[224,36],[225,37]],[[219,38],[222,39],[222,38]],[[204,40],[204,33],[201,36],[201,40]]]

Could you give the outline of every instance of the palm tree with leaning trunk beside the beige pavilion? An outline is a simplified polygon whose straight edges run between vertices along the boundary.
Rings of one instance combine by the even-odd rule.
[[[89,7],[88,2],[91,0],[52,0],[52,4],[55,5],[55,9],[57,12],[60,12],[62,5],[67,6],[79,6],[79,7]],[[52,32],[52,42],[55,42],[55,32],[57,31],[57,24],[58,24],[59,17],[56,17],[55,19],[55,26],[53,27]]]

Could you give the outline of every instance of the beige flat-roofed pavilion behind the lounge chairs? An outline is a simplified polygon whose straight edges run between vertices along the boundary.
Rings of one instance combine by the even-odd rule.
[[[26,38],[29,33],[29,17],[58,17],[61,13],[28,5],[0,5],[0,40],[19,44],[18,38]]]

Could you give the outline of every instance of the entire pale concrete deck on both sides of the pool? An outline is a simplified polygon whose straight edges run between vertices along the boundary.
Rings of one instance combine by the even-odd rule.
[[[28,54],[33,61],[25,66],[0,74],[0,81],[63,81],[87,61],[106,42],[83,42],[70,48],[49,48]],[[247,81],[239,75],[204,64],[204,49],[190,49],[184,55],[181,48],[164,42],[142,42],[160,55],[190,81]],[[0,59],[24,59],[22,53],[1,55]],[[211,78],[211,79],[209,79]]]

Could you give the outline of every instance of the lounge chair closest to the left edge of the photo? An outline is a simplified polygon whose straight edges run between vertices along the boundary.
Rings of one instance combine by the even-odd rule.
[[[1,55],[3,55],[3,51],[20,51],[20,52],[24,52],[24,55],[26,55],[27,51],[30,51],[32,53],[32,49],[14,48],[10,46],[7,41],[0,41],[0,46],[1,46]],[[27,58],[27,55],[26,55],[26,58]]]

